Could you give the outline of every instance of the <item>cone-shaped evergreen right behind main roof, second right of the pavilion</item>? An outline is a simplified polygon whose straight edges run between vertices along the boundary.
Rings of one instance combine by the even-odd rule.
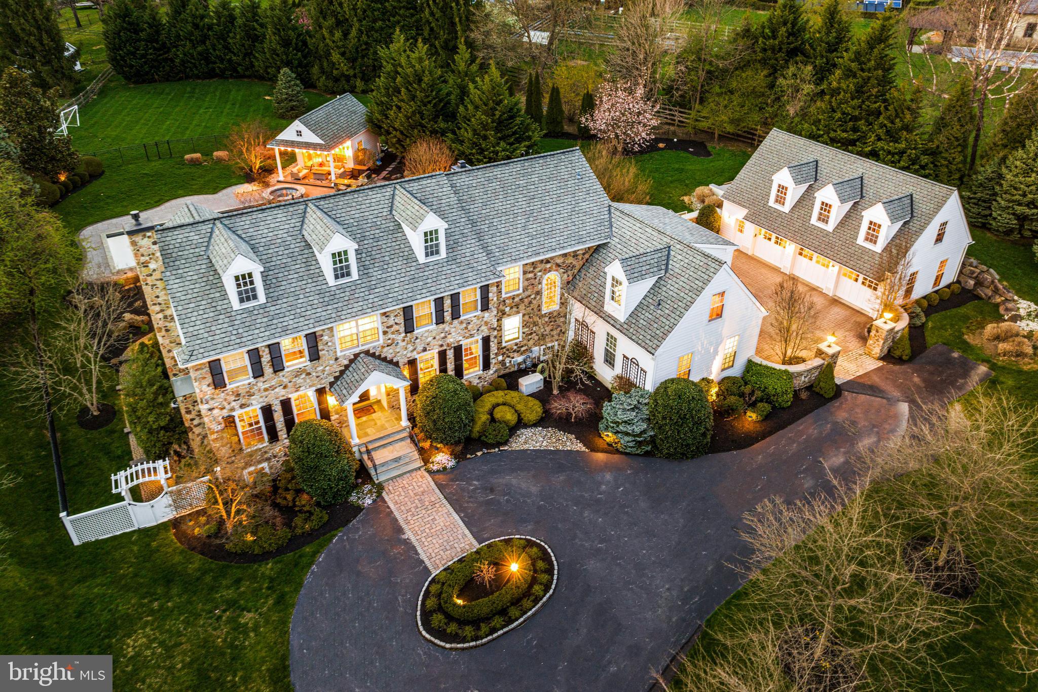
[[[540,136],[540,128],[522,112],[519,99],[509,94],[491,64],[469,90],[447,142],[459,159],[477,166],[519,158]]]

